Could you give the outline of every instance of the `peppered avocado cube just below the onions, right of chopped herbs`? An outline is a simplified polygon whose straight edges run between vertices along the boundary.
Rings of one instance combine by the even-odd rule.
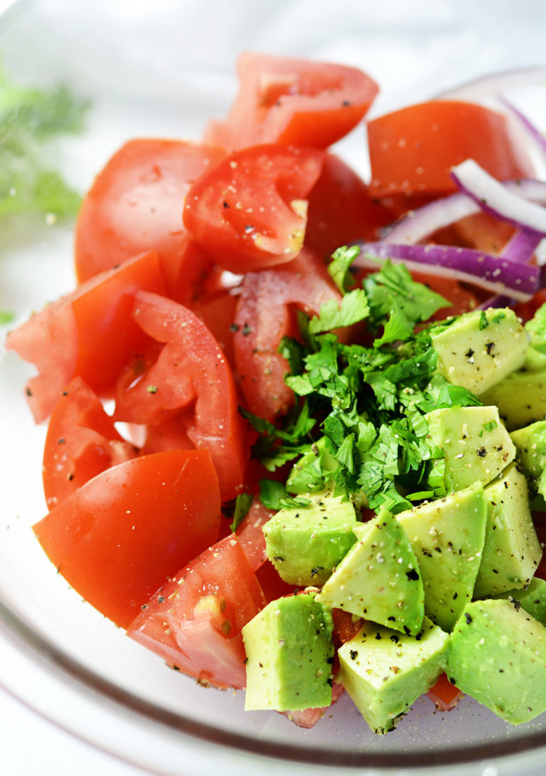
[[[437,369],[454,385],[480,395],[523,365],[527,335],[510,308],[472,310],[431,330]]]

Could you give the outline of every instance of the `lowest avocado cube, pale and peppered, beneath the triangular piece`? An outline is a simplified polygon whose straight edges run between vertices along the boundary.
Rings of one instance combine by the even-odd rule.
[[[338,650],[339,678],[376,733],[388,733],[447,664],[449,636],[428,618],[417,636],[365,622]]]

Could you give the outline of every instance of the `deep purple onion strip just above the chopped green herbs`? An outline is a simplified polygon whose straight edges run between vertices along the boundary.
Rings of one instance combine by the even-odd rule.
[[[403,262],[410,271],[442,275],[469,282],[494,294],[506,294],[518,301],[529,299],[537,291],[541,268],[510,258],[493,256],[472,248],[452,245],[401,245],[386,242],[358,243],[357,267],[373,268],[373,257]]]

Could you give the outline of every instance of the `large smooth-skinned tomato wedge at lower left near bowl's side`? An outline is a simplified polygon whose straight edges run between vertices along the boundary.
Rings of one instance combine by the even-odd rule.
[[[126,628],[166,577],[216,541],[220,494],[205,450],[170,450],[112,466],[36,523],[59,573]]]

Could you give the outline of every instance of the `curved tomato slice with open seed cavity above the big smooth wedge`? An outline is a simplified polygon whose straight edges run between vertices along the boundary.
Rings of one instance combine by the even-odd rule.
[[[160,424],[195,402],[187,436],[211,453],[222,501],[244,482],[247,451],[232,370],[201,318],[157,294],[136,294],[133,318],[163,347],[138,375],[129,369],[116,395],[118,421]],[[187,417],[187,416],[185,416]]]

